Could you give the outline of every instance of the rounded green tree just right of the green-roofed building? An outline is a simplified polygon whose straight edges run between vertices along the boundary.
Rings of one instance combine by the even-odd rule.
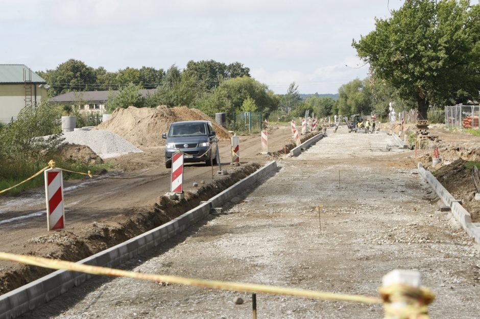
[[[95,70],[79,60],[70,59],[50,73],[50,86],[58,94],[69,91],[88,91],[97,80]]]

